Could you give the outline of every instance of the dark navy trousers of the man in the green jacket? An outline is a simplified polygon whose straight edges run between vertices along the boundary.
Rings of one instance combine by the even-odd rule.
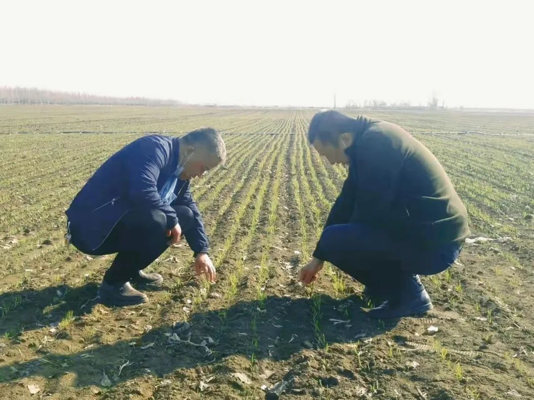
[[[328,261],[371,289],[388,295],[409,287],[415,274],[432,275],[449,268],[461,244],[418,248],[363,224],[328,226],[314,256]]]

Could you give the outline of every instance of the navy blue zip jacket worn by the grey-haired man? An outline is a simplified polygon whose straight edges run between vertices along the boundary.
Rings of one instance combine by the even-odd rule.
[[[174,208],[158,193],[178,166],[179,140],[161,135],[141,137],[107,159],[78,192],[65,212],[82,251],[99,247],[121,217],[134,208],[159,209],[167,216],[167,229],[179,223]],[[197,253],[208,252],[208,238],[189,181],[178,179],[171,203],[187,206],[194,216],[186,240]],[[87,251],[85,251],[87,250]]]

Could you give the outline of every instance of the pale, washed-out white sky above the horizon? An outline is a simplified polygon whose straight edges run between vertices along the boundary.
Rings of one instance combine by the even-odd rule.
[[[491,0],[490,0],[491,1]],[[0,3],[0,85],[188,103],[534,108],[528,1]]]

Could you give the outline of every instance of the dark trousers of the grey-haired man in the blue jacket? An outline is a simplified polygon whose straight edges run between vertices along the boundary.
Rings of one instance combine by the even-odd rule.
[[[187,235],[187,229],[193,221],[191,209],[185,206],[173,208],[182,234]],[[128,211],[103,244],[91,252],[94,255],[117,253],[104,274],[104,280],[109,283],[128,281],[158,258],[169,247],[166,224],[167,217],[160,210]]]

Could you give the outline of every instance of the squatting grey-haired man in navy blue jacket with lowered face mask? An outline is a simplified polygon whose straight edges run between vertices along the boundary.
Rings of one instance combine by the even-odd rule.
[[[131,284],[161,285],[160,274],[143,269],[182,235],[194,252],[197,274],[215,280],[190,179],[225,159],[219,132],[202,128],[179,138],[141,137],[97,169],[66,211],[66,238],[86,254],[117,253],[98,289],[101,302],[147,302]]]

